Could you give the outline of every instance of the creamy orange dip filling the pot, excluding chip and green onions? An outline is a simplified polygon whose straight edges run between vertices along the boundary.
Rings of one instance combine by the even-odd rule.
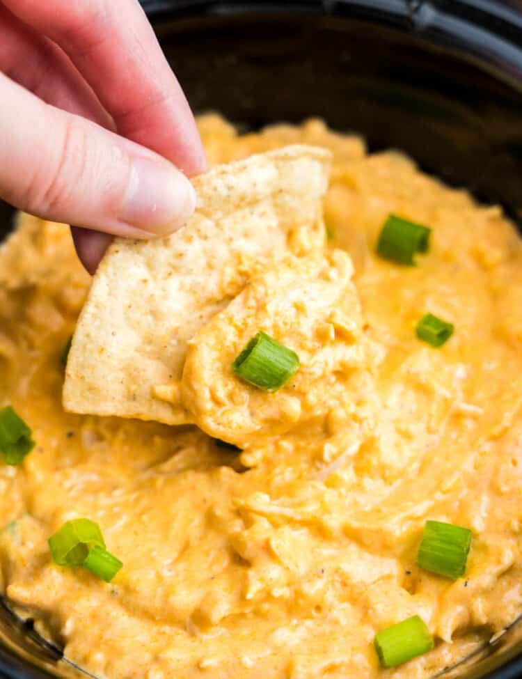
[[[65,226],[22,216],[0,250],[0,405],[36,446],[0,465],[0,591],[110,679],[375,678],[374,635],[415,614],[436,648],[391,674],[432,676],[522,611],[521,240],[500,208],[317,120],[244,136],[218,116],[198,123],[210,164],[289,143],[332,150],[326,226],[354,264],[365,346],[350,398],[324,373],[317,419],[272,431],[256,396],[249,416],[268,424],[239,453],[192,426],[63,412],[61,354],[89,277]],[[433,230],[416,267],[374,254],[390,213]],[[349,318],[351,298],[330,297]],[[455,326],[440,349],[416,338],[425,313]],[[219,356],[217,331],[226,346],[219,323],[202,342]],[[47,538],[74,517],[100,524],[122,559],[111,584],[52,563]],[[415,565],[427,519],[473,531],[465,577]]]

